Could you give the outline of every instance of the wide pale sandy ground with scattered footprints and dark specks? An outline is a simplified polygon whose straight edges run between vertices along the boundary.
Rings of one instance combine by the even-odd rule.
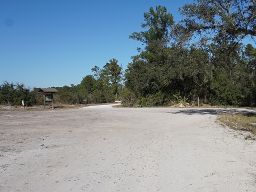
[[[256,191],[256,141],[215,122],[246,110],[3,111],[0,191]]]

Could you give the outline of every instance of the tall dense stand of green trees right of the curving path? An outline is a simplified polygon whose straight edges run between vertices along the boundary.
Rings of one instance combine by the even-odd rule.
[[[240,22],[237,25],[247,16],[242,18],[235,12],[226,18],[227,12],[222,12],[225,6],[241,10],[250,3],[239,1],[236,5],[234,2],[237,1],[198,0],[198,4],[185,5],[181,12],[187,17],[172,31],[163,27],[166,23],[172,26],[172,17],[167,16],[165,7],[158,6],[156,11],[151,7],[150,12],[144,14],[146,23],[141,27],[148,30],[133,33],[130,38],[146,46],[144,50],[140,49],[139,55],[132,57],[125,71],[125,86],[135,95],[138,106],[195,103],[197,97],[211,105],[255,106],[256,50],[250,44],[244,47],[238,43],[246,35],[253,36],[249,29],[252,26],[247,31],[231,28],[229,24],[237,15],[241,16],[236,18]],[[249,7],[244,8],[246,13],[250,12]],[[220,15],[216,16],[217,13]],[[218,17],[222,19],[218,20]],[[211,22],[223,26],[214,27]],[[159,33],[161,29],[163,31]],[[207,32],[211,30],[213,33]],[[188,45],[177,41],[168,46],[170,38],[166,37],[173,33],[182,39],[190,39],[193,34],[202,35],[201,44]],[[208,37],[212,41],[208,41]]]

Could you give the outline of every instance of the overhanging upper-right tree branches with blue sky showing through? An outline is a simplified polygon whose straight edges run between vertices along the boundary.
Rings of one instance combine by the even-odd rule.
[[[183,19],[174,26],[173,35],[181,43],[196,35],[201,43],[221,43],[224,38],[238,43],[256,36],[256,4],[240,0],[196,0],[180,8]]]

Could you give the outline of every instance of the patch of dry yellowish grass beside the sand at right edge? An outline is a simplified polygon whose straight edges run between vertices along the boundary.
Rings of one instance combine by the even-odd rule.
[[[228,125],[231,129],[250,131],[251,133],[256,134],[255,113],[219,115],[217,119],[220,122]],[[253,125],[253,123],[255,124]]]

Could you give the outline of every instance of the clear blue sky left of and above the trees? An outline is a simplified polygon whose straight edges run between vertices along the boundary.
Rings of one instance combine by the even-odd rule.
[[[125,69],[141,46],[129,35],[142,30],[143,13],[162,5],[178,21],[186,2],[1,0],[0,84],[77,85],[113,58]]]

